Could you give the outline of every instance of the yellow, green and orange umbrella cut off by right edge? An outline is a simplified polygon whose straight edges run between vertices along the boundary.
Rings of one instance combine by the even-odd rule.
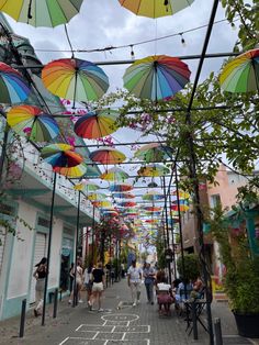
[[[259,48],[248,51],[228,63],[219,76],[219,84],[224,91],[259,93]]]

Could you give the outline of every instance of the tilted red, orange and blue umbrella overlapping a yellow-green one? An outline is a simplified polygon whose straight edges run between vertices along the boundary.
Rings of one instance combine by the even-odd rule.
[[[83,158],[67,144],[52,144],[43,147],[42,158],[53,167],[70,168],[82,163]]]

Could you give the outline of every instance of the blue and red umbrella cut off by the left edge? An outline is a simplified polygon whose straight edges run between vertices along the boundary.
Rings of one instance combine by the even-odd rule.
[[[0,103],[8,104],[23,102],[31,92],[22,75],[3,63],[0,63]]]

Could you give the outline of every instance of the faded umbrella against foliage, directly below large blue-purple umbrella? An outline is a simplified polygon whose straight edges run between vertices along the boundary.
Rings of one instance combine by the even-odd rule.
[[[134,154],[135,158],[143,159],[147,163],[162,162],[171,158],[173,149],[159,143],[144,145]]]

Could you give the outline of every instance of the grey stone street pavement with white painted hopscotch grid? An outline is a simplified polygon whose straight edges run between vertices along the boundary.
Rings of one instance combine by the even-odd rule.
[[[115,282],[104,292],[104,312],[89,311],[87,303],[72,308],[64,299],[58,304],[57,319],[52,319],[52,305],[47,309],[46,324],[35,319],[32,310],[26,315],[25,334],[19,338],[19,318],[0,322],[0,344],[25,345],[207,345],[209,336],[199,326],[199,341],[185,333],[184,318],[172,308],[170,318],[159,316],[157,305],[146,303],[143,286],[140,303],[131,305],[131,292],[126,279]],[[225,344],[259,344],[236,336],[236,327],[226,303],[213,304],[213,318],[222,319]],[[205,313],[203,314],[205,318]]]

